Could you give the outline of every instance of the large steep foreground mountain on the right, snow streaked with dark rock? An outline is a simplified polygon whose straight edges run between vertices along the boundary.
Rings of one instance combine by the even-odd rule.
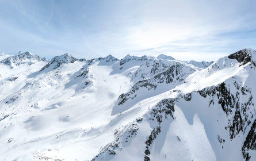
[[[180,158],[177,154],[184,154],[185,150],[181,150],[183,147],[186,147],[184,149],[188,151],[185,152],[185,155],[182,155],[181,160],[240,160],[241,157],[244,160],[255,159],[253,152],[255,151],[256,112],[253,98],[255,85],[253,82],[249,81],[255,78],[255,65],[253,59],[249,61],[246,59],[247,57],[255,57],[256,52],[244,49],[238,53],[246,55],[236,55],[238,59],[239,57],[243,57],[243,59],[239,59],[239,61],[235,59],[234,61],[229,58],[232,58],[232,55],[234,55],[232,54],[218,60],[212,64],[211,67],[190,75],[190,77],[186,79],[186,81],[189,81],[188,83],[177,86],[175,89],[171,90],[171,94],[164,94],[171,98],[162,99],[165,96],[161,95],[159,99],[162,99],[162,101],[159,101],[155,106],[152,106],[152,108],[148,108],[148,112],[141,118],[143,121],[146,121],[147,124],[150,124],[151,127],[151,132],[147,135],[146,139],[144,139],[144,145],[146,145],[146,148],[144,148],[144,160],[176,160]],[[212,78],[212,76],[221,76],[224,73],[227,74],[227,70],[234,71],[228,73],[232,75],[229,75],[228,79],[208,79]],[[198,79],[199,76],[202,79],[208,79],[206,81],[207,83],[202,84],[200,83],[201,80],[194,82],[194,79]],[[200,86],[195,84],[200,84]],[[200,102],[200,104],[197,102]],[[175,113],[175,110],[178,110],[178,112]],[[181,116],[181,113],[183,116]],[[170,117],[168,117],[168,115],[170,115]],[[178,119],[178,117],[183,117],[183,119]],[[175,121],[175,123],[171,123],[169,127],[166,127],[165,122],[170,122],[169,120]],[[192,128],[194,124],[196,124],[195,121],[198,122],[198,120],[203,125],[201,125],[202,129],[200,125],[195,125],[194,129],[204,131],[203,133],[205,135],[200,138],[201,140],[197,139],[204,147],[201,151],[207,150],[204,154],[195,155],[193,151],[198,147],[194,147],[194,143],[192,142],[193,145],[191,145],[191,141],[189,141],[194,137],[198,137],[196,136],[198,133],[194,133],[193,130],[184,131],[185,133],[189,133],[189,136],[186,136],[181,132],[169,132],[182,131],[183,128],[189,128],[188,125],[182,128],[173,125],[177,124],[177,122],[178,125],[184,124],[182,123],[184,120],[187,120],[188,124],[192,125]],[[254,122],[253,125],[251,125],[252,122]],[[139,135],[139,129],[143,128],[141,126],[142,125],[138,125],[133,129],[136,131],[135,135]],[[131,129],[127,131],[131,131]],[[161,135],[162,131],[165,133],[165,137]],[[119,155],[117,151],[131,151],[129,147],[125,145],[127,143],[122,139],[125,136],[125,132],[123,133],[123,136],[116,138],[116,140],[121,141],[118,143],[114,142],[114,145],[112,143],[108,149],[102,151],[94,160],[104,160],[106,158],[106,160],[109,160],[113,155],[114,158],[121,159],[121,156],[123,156],[125,152],[120,152]],[[173,136],[171,139],[177,141],[168,140],[166,136]],[[182,142],[182,140],[185,140],[185,143],[177,144],[177,142]],[[159,142],[165,143],[161,146],[162,150],[160,151]],[[168,147],[167,144],[169,143],[172,143],[171,146],[174,146],[174,148]],[[140,144],[143,144],[143,141],[140,141]],[[177,151],[175,148],[179,150]],[[196,151],[200,152],[199,149],[200,148]],[[143,151],[143,148],[139,150]],[[230,153],[234,154],[232,156],[228,155]],[[253,158],[251,158],[252,156]],[[139,157],[140,160],[143,160],[142,156],[139,155],[137,155],[136,158],[129,159],[132,160]]]

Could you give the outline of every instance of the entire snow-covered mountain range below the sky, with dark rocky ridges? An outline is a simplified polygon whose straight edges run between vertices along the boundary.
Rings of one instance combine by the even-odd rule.
[[[254,49],[0,59],[0,160],[256,160]]]

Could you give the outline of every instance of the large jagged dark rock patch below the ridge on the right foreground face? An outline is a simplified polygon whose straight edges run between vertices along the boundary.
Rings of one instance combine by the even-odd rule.
[[[248,119],[249,114],[247,111],[250,109],[250,106],[254,106],[252,99],[253,95],[251,95],[250,89],[246,89],[246,87],[240,87],[237,82],[234,83],[236,89],[240,89],[240,91],[236,91],[236,97],[230,92],[230,89],[226,83],[220,83],[214,87],[208,87],[206,89],[197,91],[202,97],[209,99],[209,106],[214,104],[214,101],[218,101],[218,104],[221,105],[223,111],[227,114],[228,125],[226,130],[230,129],[230,139],[234,139],[239,132],[245,132],[246,127],[250,125],[250,120]],[[244,102],[239,101],[239,93],[243,95],[249,95],[249,99]],[[254,107],[253,107],[254,108]],[[234,113],[234,114],[233,114]],[[250,113],[251,117],[253,117],[253,113]]]

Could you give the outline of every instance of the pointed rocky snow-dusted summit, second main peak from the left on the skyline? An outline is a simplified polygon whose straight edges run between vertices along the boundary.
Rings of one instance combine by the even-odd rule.
[[[40,71],[43,71],[45,68],[48,68],[52,64],[55,65],[53,68],[56,69],[64,63],[74,63],[75,61],[77,61],[77,58],[73,57],[70,53],[65,53],[63,55],[53,57],[52,60],[43,68],[41,68]]]

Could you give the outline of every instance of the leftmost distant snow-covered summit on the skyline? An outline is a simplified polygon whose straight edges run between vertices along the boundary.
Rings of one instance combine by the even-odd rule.
[[[20,64],[31,63],[31,62],[46,61],[45,58],[41,58],[38,55],[34,55],[30,52],[19,52],[17,55],[7,57],[0,61],[0,64],[5,64],[10,67],[19,66]]]

